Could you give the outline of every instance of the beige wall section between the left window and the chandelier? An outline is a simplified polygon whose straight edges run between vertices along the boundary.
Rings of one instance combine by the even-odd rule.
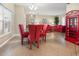
[[[16,5],[15,6],[15,19],[16,19],[16,28],[15,28],[15,33],[19,33],[19,24],[23,24],[24,27],[26,26],[26,19],[25,19],[25,11],[23,6]]]

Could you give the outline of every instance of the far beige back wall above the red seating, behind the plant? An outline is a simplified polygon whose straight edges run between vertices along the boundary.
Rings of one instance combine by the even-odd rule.
[[[36,16],[35,17],[35,23],[40,23],[40,24],[42,24],[42,21],[43,21],[43,18],[44,19],[46,19],[46,23],[47,24],[49,24],[49,25],[55,25],[54,24],[54,18],[55,18],[55,16],[41,16],[41,15],[39,15],[39,16]],[[59,25],[61,25],[62,23],[62,17],[61,16],[59,16]]]

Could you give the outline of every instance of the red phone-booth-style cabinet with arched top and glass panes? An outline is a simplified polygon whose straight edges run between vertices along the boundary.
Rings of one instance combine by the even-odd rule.
[[[72,10],[66,14],[66,35],[69,42],[79,44],[79,10]]]

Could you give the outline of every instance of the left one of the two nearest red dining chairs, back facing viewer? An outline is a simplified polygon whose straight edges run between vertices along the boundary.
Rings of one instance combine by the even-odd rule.
[[[35,25],[29,25],[29,44],[30,44],[30,49],[32,49],[32,43],[36,41],[36,27]]]

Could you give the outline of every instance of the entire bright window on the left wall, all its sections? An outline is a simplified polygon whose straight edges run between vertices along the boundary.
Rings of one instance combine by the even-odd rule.
[[[11,32],[12,12],[0,5],[0,35]]]

